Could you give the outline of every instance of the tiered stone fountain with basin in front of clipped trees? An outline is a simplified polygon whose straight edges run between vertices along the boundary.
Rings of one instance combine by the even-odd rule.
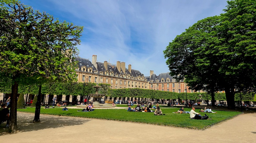
[[[93,105],[94,105],[94,108],[109,108],[109,107],[115,107],[115,106],[109,106],[109,105],[100,105],[99,101],[100,99],[105,96],[105,94],[99,94],[98,92],[98,88],[101,88],[101,86],[99,86],[98,84],[96,86],[93,86],[94,88],[96,88],[96,92],[95,94],[88,94],[88,101],[89,99],[91,99],[91,97],[93,97]],[[86,105],[77,105],[77,107],[83,107],[85,108]]]

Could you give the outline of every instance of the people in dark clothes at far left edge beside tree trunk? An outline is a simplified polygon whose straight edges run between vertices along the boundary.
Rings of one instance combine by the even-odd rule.
[[[8,105],[2,104],[1,108],[0,108],[0,124],[2,124],[2,122],[6,121],[5,128],[9,128],[9,119],[10,119],[10,110],[9,110],[9,108],[10,107],[11,107],[10,104],[8,104]]]

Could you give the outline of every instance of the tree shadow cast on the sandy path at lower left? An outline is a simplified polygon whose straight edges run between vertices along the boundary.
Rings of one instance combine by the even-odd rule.
[[[17,113],[18,132],[27,132],[35,130],[43,130],[49,128],[61,128],[65,126],[82,125],[91,119],[67,116],[54,116],[40,114],[40,121],[33,123],[35,114],[31,113]],[[0,136],[9,134],[8,128],[5,128],[6,122],[0,126]]]

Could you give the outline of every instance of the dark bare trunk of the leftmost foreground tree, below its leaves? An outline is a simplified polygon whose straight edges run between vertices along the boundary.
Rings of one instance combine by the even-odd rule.
[[[10,108],[10,123],[9,123],[9,132],[17,132],[17,97],[18,97],[18,82],[16,82],[16,76],[12,79],[14,84],[12,85],[12,94],[11,94],[11,108]]]

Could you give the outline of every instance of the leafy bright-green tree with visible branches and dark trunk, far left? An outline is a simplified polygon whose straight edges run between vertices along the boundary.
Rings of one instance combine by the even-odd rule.
[[[12,79],[9,131],[16,132],[20,81],[75,78],[72,57],[78,53],[83,27],[58,21],[16,0],[0,2],[0,17],[0,72]]]

